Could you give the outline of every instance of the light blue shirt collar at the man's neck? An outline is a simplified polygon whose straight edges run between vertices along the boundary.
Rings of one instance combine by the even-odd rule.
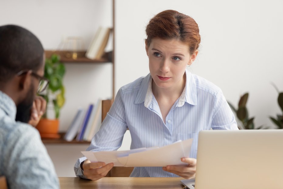
[[[0,91],[0,109],[2,109],[12,120],[16,118],[17,108],[10,96]]]

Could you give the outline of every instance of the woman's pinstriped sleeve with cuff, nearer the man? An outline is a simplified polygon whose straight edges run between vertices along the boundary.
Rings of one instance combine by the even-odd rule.
[[[87,151],[114,151],[121,147],[124,134],[127,130],[125,121],[125,107],[122,90],[119,89],[117,96],[101,124],[99,131],[91,140]],[[74,171],[77,177],[86,178],[80,164],[86,160],[82,157],[77,160]]]

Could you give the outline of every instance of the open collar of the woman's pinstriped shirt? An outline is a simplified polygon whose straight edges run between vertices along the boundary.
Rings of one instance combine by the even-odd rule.
[[[181,107],[186,103],[191,105],[197,105],[197,94],[196,94],[196,82],[195,79],[187,69],[186,73],[186,86],[179,98],[177,103],[178,107]],[[135,104],[144,102],[145,107],[148,107],[152,101],[152,77],[150,73],[143,79],[140,89],[138,90]]]

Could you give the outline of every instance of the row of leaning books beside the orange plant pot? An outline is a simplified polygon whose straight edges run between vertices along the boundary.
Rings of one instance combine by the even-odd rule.
[[[79,108],[64,139],[72,141],[76,138],[77,141],[91,141],[101,126],[101,109],[101,99],[95,105],[90,104],[87,110]]]

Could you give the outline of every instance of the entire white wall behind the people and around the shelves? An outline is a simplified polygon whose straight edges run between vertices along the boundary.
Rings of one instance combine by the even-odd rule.
[[[0,0],[0,25],[26,27],[46,49],[56,49],[68,36],[83,37],[87,47],[98,26],[111,26],[111,2]],[[280,109],[278,94],[270,82],[283,91],[283,1],[116,0],[115,6],[115,92],[148,74],[145,26],[158,12],[176,9],[196,20],[202,37],[198,58],[190,71],[219,86],[235,105],[241,94],[249,92],[247,107],[256,117],[255,124],[272,125],[268,115],[275,116]],[[66,131],[77,107],[87,108],[99,97],[111,97],[111,69],[110,63],[66,64],[66,104],[61,111],[60,131]],[[122,149],[128,149],[130,142],[127,133]],[[58,176],[72,177],[75,160],[87,145],[46,147]]]

